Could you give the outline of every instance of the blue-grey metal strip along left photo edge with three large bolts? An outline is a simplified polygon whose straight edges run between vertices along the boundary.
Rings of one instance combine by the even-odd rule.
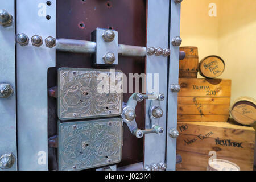
[[[15,78],[15,1],[0,0],[1,9],[13,16],[13,23],[9,27],[0,25],[0,83],[10,84],[14,93],[9,98],[0,98],[1,140],[0,156],[13,154],[15,162],[10,169],[17,169],[16,148],[16,78]],[[2,169],[0,168],[0,171]]]

